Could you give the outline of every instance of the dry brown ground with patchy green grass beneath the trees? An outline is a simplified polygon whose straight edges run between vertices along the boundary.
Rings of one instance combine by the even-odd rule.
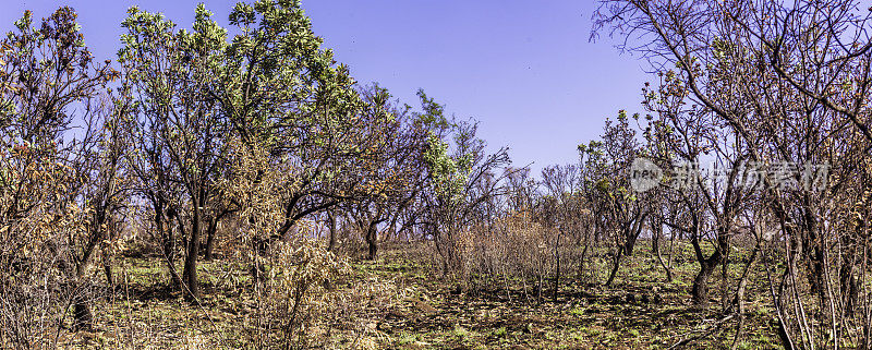
[[[353,273],[332,288],[348,295],[331,303],[306,330],[308,345],[322,349],[667,349],[726,348],[735,339],[735,319],[722,322],[719,275],[712,278],[712,306],[689,307],[689,281],[695,271],[690,252],[677,257],[675,278],[665,282],[659,265],[640,242],[610,287],[569,280],[555,301],[524,293],[521,283],[471,291],[441,278],[429,264],[392,248],[377,262],[354,261]],[[685,255],[683,257],[681,255]],[[741,255],[737,255],[741,257]],[[116,271],[122,281],[112,297],[95,302],[94,331],[64,331],[62,343],[76,348],[235,349],[246,346],[239,325],[251,322],[255,303],[246,295],[249,276],[240,266],[204,262],[201,303],[168,292],[164,265],[156,257],[125,257]],[[743,267],[730,265],[731,278]],[[604,269],[607,270],[607,269]],[[605,280],[605,277],[602,278]],[[775,349],[777,337],[765,298],[754,280],[738,349]],[[694,339],[703,336],[700,339]]]

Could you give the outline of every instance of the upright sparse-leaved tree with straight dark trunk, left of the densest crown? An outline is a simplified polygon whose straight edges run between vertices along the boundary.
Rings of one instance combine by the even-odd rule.
[[[147,169],[157,166],[154,160],[158,153],[166,152],[170,171],[160,176],[179,184],[183,194],[182,202],[171,204],[178,210],[174,218],[186,242],[183,286],[186,295],[199,299],[196,263],[204,212],[216,191],[214,177],[226,162],[222,155],[228,143],[222,135],[230,130],[221,118],[219,101],[210,94],[221,76],[227,34],[202,4],[190,33],[174,32],[174,24],[161,14],[137,8],[129,13],[122,23],[129,33],[122,36],[124,47],[119,50],[123,94],[134,125],[141,125],[132,131],[148,135],[138,144],[148,147],[145,153],[152,153],[145,171],[140,173],[152,176]],[[184,220],[190,224],[184,225]]]

